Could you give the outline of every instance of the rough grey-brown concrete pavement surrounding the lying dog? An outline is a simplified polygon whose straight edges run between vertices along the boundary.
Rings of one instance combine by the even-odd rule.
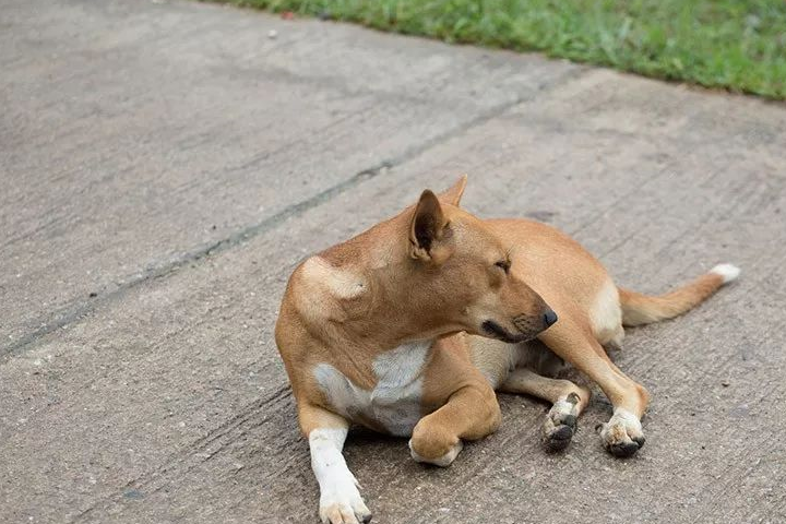
[[[620,284],[743,274],[615,355],[653,393],[636,457],[597,390],[559,454],[501,395],[448,469],[350,436],[374,522],[786,521],[783,105],[199,3],[0,13],[0,522],[318,522],[283,287],[464,171]]]

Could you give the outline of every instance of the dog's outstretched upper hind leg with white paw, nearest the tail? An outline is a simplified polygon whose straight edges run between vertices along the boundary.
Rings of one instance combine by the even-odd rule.
[[[641,417],[650,402],[644,386],[628,378],[609,360],[577,308],[560,308],[560,320],[539,338],[558,356],[596,382],[614,405],[600,438],[616,456],[630,456],[644,445]]]

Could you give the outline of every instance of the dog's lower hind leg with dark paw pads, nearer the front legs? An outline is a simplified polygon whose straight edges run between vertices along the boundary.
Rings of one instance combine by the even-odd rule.
[[[570,380],[549,379],[527,368],[517,368],[500,391],[537,396],[552,404],[544,422],[544,443],[550,451],[568,446],[576,428],[576,418],[590,402],[590,390]]]

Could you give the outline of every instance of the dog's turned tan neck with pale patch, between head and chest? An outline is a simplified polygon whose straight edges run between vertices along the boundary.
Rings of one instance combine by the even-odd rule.
[[[413,293],[420,276],[407,233],[408,219],[400,215],[307,262],[309,278],[330,295],[336,343],[388,350],[461,331]]]

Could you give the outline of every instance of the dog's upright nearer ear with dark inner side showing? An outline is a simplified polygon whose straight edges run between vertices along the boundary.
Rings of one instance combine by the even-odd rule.
[[[442,212],[437,195],[430,189],[420,194],[409,225],[409,254],[413,259],[441,263],[448,258],[444,249],[439,249],[440,240],[448,228],[448,219]]]

